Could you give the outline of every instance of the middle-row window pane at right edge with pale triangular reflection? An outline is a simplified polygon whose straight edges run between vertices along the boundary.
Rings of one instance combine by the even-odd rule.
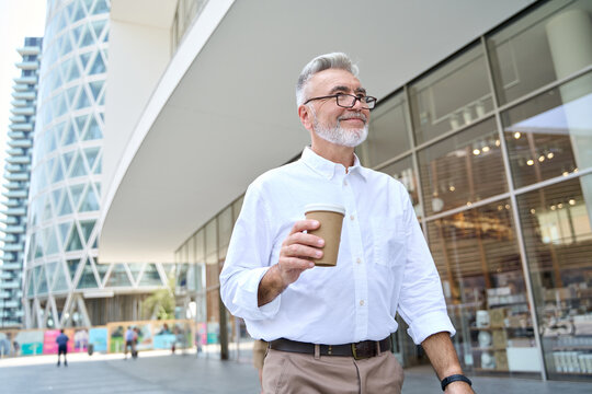
[[[502,114],[515,187],[592,166],[592,74]]]

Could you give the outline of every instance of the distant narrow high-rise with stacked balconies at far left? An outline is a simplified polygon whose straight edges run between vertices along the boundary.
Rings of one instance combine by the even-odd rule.
[[[23,317],[22,271],[42,42],[41,37],[26,37],[24,46],[18,49],[22,56],[16,63],[21,76],[14,79],[4,165],[7,183],[2,185],[5,228],[0,265],[0,327],[19,327]]]

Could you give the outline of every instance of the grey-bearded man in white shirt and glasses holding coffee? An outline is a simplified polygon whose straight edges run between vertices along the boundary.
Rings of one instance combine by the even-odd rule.
[[[303,69],[296,97],[311,144],[249,186],[220,274],[223,301],[251,336],[270,341],[264,393],[400,393],[403,372],[390,351],[399,313],[445,393],[473,394],[409,194],[354,154],[376,104],[356,76],[341,53]],[[335,266],[312,262],[328,240],[309,233],[325,224],[301,219],[311,204],[344,212]]]

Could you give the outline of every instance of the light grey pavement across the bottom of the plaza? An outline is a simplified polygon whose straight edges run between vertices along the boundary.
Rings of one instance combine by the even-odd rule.
[[[250,362],[220,361],[194,351],[144,351],[137,359],[123,355],[68,355],[68,367],[56,356],[0,360],[0,393],[198,393],[258,394],[257,370]],[[406,369],[403,394],[442,393],[430,367]],[[533,379],[471,376],[478,394],[590,394],[592,382],[543,382]],[[330,394],[330,393],[328,393]],[[383,394],[383,393],[377,393]]]

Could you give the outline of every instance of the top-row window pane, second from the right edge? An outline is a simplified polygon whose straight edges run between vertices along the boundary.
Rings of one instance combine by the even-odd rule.
[[[482,47],[411,84],[409,100],[418,144],[482,118],[493,109]]]

